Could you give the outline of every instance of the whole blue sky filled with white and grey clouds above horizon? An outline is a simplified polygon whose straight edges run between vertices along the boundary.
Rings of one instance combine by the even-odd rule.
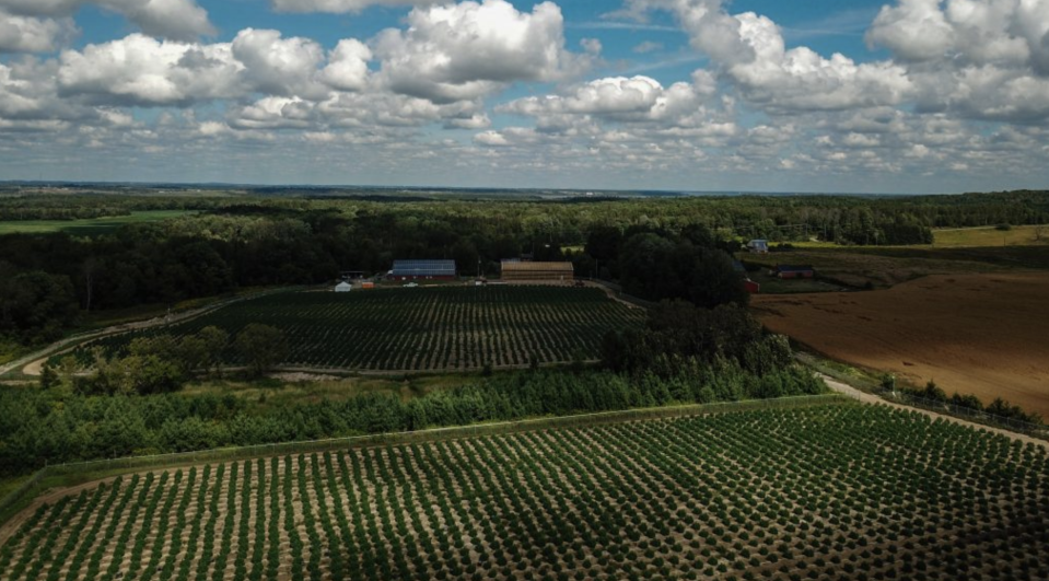
[[[0,0],[0,181],[1049,185],[1049,0]]]

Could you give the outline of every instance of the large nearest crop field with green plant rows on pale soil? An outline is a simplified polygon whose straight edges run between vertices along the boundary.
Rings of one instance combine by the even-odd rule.
[[[844,404],[124,476],[0,578],[1045,579],[1047,544],[1044,448]]]

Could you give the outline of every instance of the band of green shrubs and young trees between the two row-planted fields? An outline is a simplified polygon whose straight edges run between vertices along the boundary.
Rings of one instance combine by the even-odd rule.
[[[232,395],[98,397],[9,390],[0,391],[0,472],[25,472],[45,458],[69,462],[821,391],[821,383],[800,369],[759,376],[732,363],[690,364],[667,379],[650,372],[626,377],[528,371],[408,402],[368,394],[264,414]]]

